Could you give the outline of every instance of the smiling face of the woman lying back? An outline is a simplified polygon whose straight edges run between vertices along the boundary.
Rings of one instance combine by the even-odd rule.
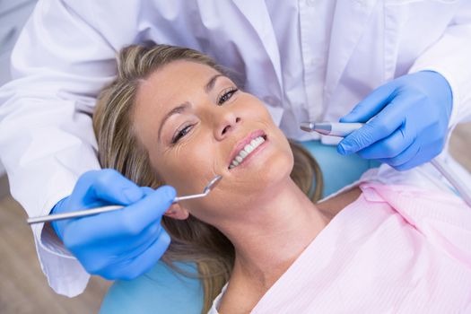
[[[133,117],[153,169],[179,196],[222,175],[208,196],[179,206],[205,222],[249,211],[289,179],[292,151],[264,104],[208,65],[164,65],[140,84]]]

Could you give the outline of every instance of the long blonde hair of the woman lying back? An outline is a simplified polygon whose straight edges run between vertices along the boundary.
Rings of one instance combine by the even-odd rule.
[[[208,65],[228,74],[211,57],[193,49],[168,45],[129,46],[119,52],[117,77],[100,92],[93,114],[101,167],[118,170],[139,186],[158,188],[164,182],[153,170],[148,152],[135,136],[132,115],[136,92],[150,74],[176,60]],[[318,163],[301,145],[292,141],[290,144],[294,155],[291,177],[316,202],[322,193]],[[313,178],[316,184],[313,184]],[[164,216],[162,226],[170,234],[171,243],[161,260],[184,275],[189,274],[179,270],[174,263],[196,263],[197,277],[202,281],[205,295],[202,312],[207,312],[231,275],[235,257],[231,241],[221,231],[192,215],[184,221]]]

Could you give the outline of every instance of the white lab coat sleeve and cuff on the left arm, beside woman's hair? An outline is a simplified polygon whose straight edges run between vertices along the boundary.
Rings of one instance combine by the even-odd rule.
[[[83,172],[100,169],[92,109],[116,72],[115,56],[65,1],[39,1],[26,23],[13,48],[13,81],[0,89],[0,157],[29,216],[49,214]],[[32,231],[49,285],[69,297],[83,292],[90,276],[55,233],[42,223]]]

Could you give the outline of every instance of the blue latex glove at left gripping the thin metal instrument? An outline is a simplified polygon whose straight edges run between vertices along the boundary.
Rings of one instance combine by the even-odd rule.
[[[139,188],[116,170],[92,170],[54,206],[65,213],[101,205],[125,205],[114,212],[52,222],[57,236],[92,275],[132,279],[152,268],[170,245],[161,216],[174,188]]]

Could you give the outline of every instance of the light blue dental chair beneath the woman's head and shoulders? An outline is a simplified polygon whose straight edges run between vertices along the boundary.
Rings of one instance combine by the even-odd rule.
[[[336,146],[318,141],[301,142],[314,156],[324,177],[324,195],[328,196],[353,181],[362,173],[379,167],[377,161],[366,161],[357,155],[341,156]],[[180,263],[183,270],[196,274],[193,263]],[[158,262],[147,274],[131,281],[116,281],[101,303],[100,314],[201,313],[203,289],[198,279],[188,278]]]

